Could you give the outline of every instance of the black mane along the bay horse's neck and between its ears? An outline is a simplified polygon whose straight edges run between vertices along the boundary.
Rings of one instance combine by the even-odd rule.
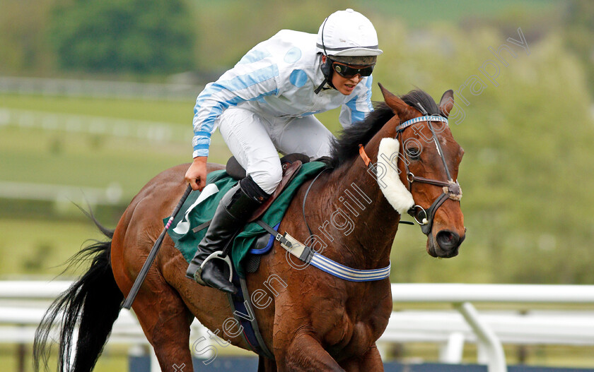
[[[423,90],[412,90],[406,95],[400,96],[400,99],[419,112],[426,110],[430,115],[441,114],[436,102]],[[352,160],[353,157],[359,156],[359,144],[366,145],[375,136],[375,133],[378,133],[380,128],[394,116],[394,112],[385,102],[374,102],[373,108],[373,112],[368,114],[363,121],[344,128],[339,136],[332,140],[330,157],[321,159],[327,162],[330,168],[337,168],[344,162]]]

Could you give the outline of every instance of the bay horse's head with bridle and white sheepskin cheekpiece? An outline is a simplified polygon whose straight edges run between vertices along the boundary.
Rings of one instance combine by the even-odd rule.
[[[378,163],[384,162],[385,169],[397,167],[392,185],[386,184],[382,191],[396,210],[421,224],[431,256],[456,256],[466,229],[457,181],[464,150],[447,120],[453,91],[445,92],[437,105],[424,92],[401,98],[380,88],[395,116],[384,127],[389,136],[380,142]]]

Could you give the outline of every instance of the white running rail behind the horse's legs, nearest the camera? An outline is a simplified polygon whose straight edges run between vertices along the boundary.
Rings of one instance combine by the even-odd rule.
[[[0,281],[0,342],[33,342],[37,324],[50,301],[66,290],[69,281]],[[566,344],[594,347],[594,285],[523,284],[392,284],[395,304],[441,303],[452,309],[395,311],[378,343],[437,342],[440,361],[460,363],[465,342],[479,346],[479,363],[489,372],[507,371],[501,344]],[[472,304],[508,304],[518,311],[482,311]],[[513,304],[517,304],[513,305]],[[525,309],[547,304],[547,310]],[[578,304],[568,310],[559,304]],[[486,306],[486,305],[485,305]],[[483,306],[483,307],[485,307]],[[410,305],[407,305],[407,308]],[[522,309],[522,311],[520,311]],[[198,322],[192,340],[204,335]],[[122,311],[108,344],[148,345],[134,315]],[[153,363],[151,367],[158,370]]]

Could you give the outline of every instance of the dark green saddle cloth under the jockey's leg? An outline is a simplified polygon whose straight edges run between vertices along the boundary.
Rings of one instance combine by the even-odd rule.
[[[264,212],[264,215],[260,217],[260,220],[269,224],[269,226],[275,226],[283,219],[283,216],[289,208],[289,203],[293,199],[293,195],[303,182],[307,181],[311,177],[320,173],[327,164],[322,162],[308,162],[303,164],[299,172],[293,178],[291,183],[285,187],[281,195],[270,205],[270,207]],[[208,195],[209,191],[216,190],[211,184],[216,185],[219,189],[218,192],[212,195],[206,196],[203,200],[197,203],[200,196],[200,191],[192,191],[190,196],[187,197],[185,203],[182,205],[180,212],[173,220],[168,234],[175,243],[175,248],[180,250],[187,262],[190,262],[196,253],[198,244],[204,238],[206,229],[202,229],[199,232],[192,232],[194,227],[212,220],[216,206],[219,205],[219,200],[223,198],[223,195],[229,191],[237,183],[236,179],[231,178],[224,170],[211,172],[206,177],[206,188],[202,191]],[[163,219],[163,224],[166,224],[168,218]],[[248,251],[255,243],[258,236],[262,235],[264,230],[256,222],[250,222],[246,224],[243,231],[235,237],[233,246],[231,247],[231,260],[235,265],[240,277],[245,277],[243,270],[243,259],[248,254]]]

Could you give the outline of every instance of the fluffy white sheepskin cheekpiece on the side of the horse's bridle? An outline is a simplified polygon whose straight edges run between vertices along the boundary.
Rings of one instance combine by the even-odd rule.
[[[398,175],[398,150],[400,143],[394,138],[383,138],[380,142],[378,152],[377,172],[378,185],[380,190],[401,215],[405,215],[414,205],[412,194],[400,181]]]

